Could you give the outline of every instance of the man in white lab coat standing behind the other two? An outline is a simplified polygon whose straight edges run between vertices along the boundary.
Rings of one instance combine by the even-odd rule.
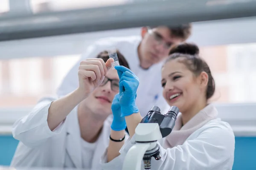
[[[161,111],[166,110],[167,104],[163,99],[161,86],[162,62],[168,56],[172,45],[189,38],[191,28],[191,24],[176,28],[143,27],[140,36],[108,37],[94,42],[87,47],[81,59],[66,75],[58,88],[58,96],[64,96],[79,86],[77,68],[81,61],[96,56],[100,51],[116,48],[140,79],[136,103],[142,116],[145,116],[153,105],[158,106]]]

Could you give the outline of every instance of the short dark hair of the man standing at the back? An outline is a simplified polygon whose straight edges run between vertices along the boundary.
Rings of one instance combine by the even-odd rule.
[[[157,27],[158,26],[154,26],[151,28],[157,28]],[[172,26],[172,27],[168,27],[168,28],[171,31],[171,36],[181,38],[183,41],[185,41],[191,35],[192,24],[188,23],[188,24],[182,24],[179,26]]]

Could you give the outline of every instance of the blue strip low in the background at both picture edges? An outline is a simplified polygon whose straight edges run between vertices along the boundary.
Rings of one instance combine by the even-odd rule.
[[[0,136],[0,165],[11,163],[17,144],[12,136]],[[233,170],[256,170],[255,153],[256,137],[236,137]]]

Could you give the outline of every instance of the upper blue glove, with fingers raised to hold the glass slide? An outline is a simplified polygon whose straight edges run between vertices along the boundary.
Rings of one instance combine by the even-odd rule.
[[[132,113],[138,113],[139,109],[135,104],[139,78],[128,68],[117,65],[115,66],[119,76],[119,103],[121,105],[121,116],[129,116]]]

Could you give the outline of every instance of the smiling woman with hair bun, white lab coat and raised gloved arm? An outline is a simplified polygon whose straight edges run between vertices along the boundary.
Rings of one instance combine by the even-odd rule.
[[[172,48],[163,65],[163,97],[170,106],[177,106],[181,113],[172,133],[166,136],[162,145],[159,143],[162,159],[151,159],[152,170],[231,170],[233,167],[235,136],[230,125],[218,118],[217,109],[208,101],[214,94],[215,83],[209,66],[198,54],[197,45],[180,44]],[[136,94],[137,77],[126,71],[131,74],[129,79],[126,78],[125,91]],[[120,78],[120,85],[122,79],[125,79],[125,74]],[[121,100],[130,101],[134,96],[124,95],[119,99],[121,110]],[[133,136],[142,117],[136,110],[136,104],[130,108],[135,108],[133,113],[130,111],[124,116],[130,136]],[[135,144],[135,138],[128,141],[122,148],[116,145],[108,147],[108,154],[102,157],[105,170],[122,169],[125,155]],[[111,167],[113,164],[116,168]]]

